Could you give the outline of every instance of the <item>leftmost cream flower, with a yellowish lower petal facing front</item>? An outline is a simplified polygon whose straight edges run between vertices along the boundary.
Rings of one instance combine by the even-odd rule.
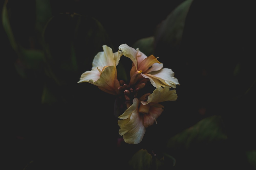
[[[112,52],[112,49],[106,45],[103,45],[103,51],[99,52],[93,59],[92,70],[84,72],[81,77],[81,82],[88,82],[98,86],[102,91],[118,95],[120,86],[117,80],[116,66],[119,63],[122,51],[116,53]]]

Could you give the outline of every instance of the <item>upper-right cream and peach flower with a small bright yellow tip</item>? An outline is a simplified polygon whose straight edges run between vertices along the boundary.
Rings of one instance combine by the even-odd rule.
[[[130,71],[131,77],[136,71],[142,71],[140,79],[143,77],[149,79],[151,84],[156,88],[161,86],[176,88],[176,85],[179,85],[178,79],[174,77],[172,69],[163,68],[163,63],[160,63],[153,55],[147,57],[138,48],[135,50],[127,44],[120,45],[119,50],[133,62]]]

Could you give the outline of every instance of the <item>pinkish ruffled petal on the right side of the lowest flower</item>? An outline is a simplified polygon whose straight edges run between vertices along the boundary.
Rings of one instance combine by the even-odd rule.
[[[153,125],[156,122],[156,119],[161,115],[164,111],[164,106],[158,103],[149,103],[145,106],[149,105],[150,109],[148,114],[144,114],[144,126],[147,128],[148,126]],[[143,105],[144,106],[144,105]]]

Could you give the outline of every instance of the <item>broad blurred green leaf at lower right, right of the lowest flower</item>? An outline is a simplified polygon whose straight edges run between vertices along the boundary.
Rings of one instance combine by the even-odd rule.
[[[167,148],[189,149],[193,145],[227,139],[221,116],[202,119],[168,140]]]

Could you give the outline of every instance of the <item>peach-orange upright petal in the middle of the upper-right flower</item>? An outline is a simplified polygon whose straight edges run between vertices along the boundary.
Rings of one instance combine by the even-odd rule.
[[[153,68],[153,64],[157,63],[154,65]],[[160,67],[159,67],[160,66]],[[138,62],[138,66],[137,66],[137,70],[142,70],[143,74],[148,73],[149,70],[160,70],[163,64],[161,64],[153,55],[146,57],[143,61]]]

